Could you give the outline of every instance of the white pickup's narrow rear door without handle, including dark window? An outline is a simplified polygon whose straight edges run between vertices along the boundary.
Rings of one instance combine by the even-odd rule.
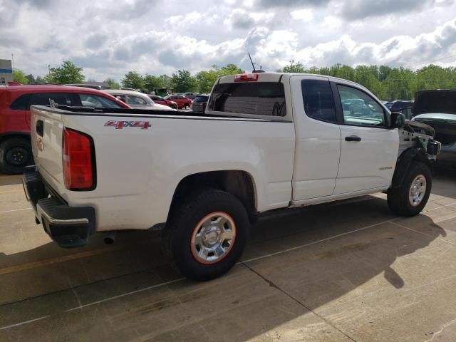
[[[341,130],[336,120],[328,78],[290,78],[296,129],[293,200],[333,194],[341,154]]]

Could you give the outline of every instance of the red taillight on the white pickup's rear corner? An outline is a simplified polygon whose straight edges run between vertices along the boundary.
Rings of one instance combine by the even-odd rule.
[[[93,144],[88,135],[76,130],[63,130],[62,165],[63,180],[68,190],[93,190],[95,165]]]

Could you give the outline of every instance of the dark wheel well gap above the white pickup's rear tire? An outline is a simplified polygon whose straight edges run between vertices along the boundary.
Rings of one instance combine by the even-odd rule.
[[[219,189],[231,193],[244,204],[250,222],[252,224],[256,222],[258,212],[254,178],[249,172],[243,170],[199,172],[184,177],[180,180],[172,196],[167,221],[186,197],[204,188]]]

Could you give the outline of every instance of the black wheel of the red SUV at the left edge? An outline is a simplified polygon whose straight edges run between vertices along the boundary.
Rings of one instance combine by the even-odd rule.
[[[0,170],[10,175],[24,172],[24,167],[33,164],[30,141],[10,138],[0,144]]]

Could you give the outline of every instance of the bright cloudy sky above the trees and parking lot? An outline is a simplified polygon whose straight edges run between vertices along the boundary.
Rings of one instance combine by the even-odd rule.
[[[44,76],[193,73],[213,64],[456,66],[455,0],[0,0],[0,59]]]

